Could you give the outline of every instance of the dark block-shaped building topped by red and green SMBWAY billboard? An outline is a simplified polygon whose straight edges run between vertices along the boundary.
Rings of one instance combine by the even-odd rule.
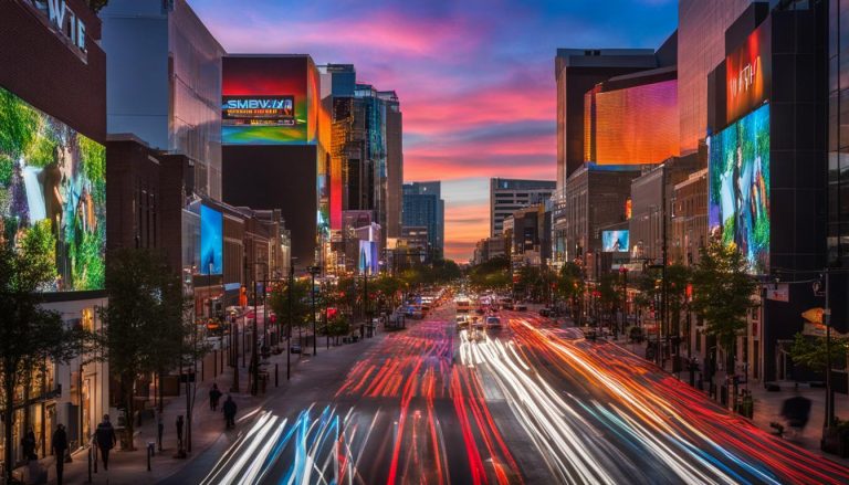
[[[329,134],[319,130],[319,74],[308,55],[223,59],[223,199],[280,209],[298,267],[322,264],[329,240]]]

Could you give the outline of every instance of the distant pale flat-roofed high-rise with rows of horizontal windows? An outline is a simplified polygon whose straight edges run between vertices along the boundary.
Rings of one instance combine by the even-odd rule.
[[[556,186],[553,180],[490,179],[490,238],[501,235],[504,218],[551,199]]]

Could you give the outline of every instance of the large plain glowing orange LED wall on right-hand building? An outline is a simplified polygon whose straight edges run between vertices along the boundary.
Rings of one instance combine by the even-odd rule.
[[[587,97],[591,99],[591,97]],[[679,154],[678,82],[674,80],[595,94],[595,161],[658,164]]]

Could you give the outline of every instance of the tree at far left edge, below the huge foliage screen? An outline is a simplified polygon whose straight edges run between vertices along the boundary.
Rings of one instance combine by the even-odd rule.
[[[41,292],[55,276],[53,246],[41,244],[30,234],[22,238],[18,249],[0,242],[0,409],[9,482],[14,470],[15,391],[28,390],[33,375],[46,371],[48,362],[67,362],[92,341],[87,330],[67,328],[57,313],[41,307]]]

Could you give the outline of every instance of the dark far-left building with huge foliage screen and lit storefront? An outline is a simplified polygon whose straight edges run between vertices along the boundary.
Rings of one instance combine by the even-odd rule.
[[[66,9],[63,17],[59,7]],[[105,177],[101,20],[81,0],[0,2],[0,244],[17,247],[34,234],[52,240],[55,278],[44,285],[41,306],[67,328],[102,331],[99,309],[108,304],[106,197],[113,189]],[[0,441],[0,468],[27,463],[21,440],[30,426],[39,458],[52,453],[60,423],[71,451],[91,442],[96,417],[111,411],[109,368],[93,358],[6,369],[33,379],[2,404],[4,415],[13,410],[14,421],[10,429],[0,423],[0,435],[12,437],[11,450]],[[11,463],[4,463],[7,452]]]

